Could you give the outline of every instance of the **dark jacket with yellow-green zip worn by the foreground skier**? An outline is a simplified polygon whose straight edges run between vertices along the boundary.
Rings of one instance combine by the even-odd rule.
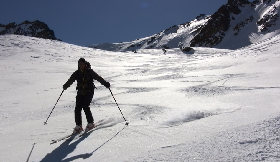
[[[68,79],[68,81],[63,85],[64,88],[69,88],[70,85],[77,80],[77,88],[78,90],[77,94],[78,95],[86,95],[89,93],[94,93],[94,84],[93,84],[93,79],[97,80],[100,82],[102,85],[105,84],[105,80],[99,76],[96,72],[94,72],[92,69],[86,68],[85,70],[81,70],[78,67],[78,70],[73,72],[71,77]]]

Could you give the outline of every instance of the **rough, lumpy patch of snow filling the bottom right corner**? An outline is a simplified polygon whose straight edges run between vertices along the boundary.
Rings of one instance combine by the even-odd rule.
[[[143,152],[130,161],[270,161],[280,159],[280,116],[194,143],[163,146],[159,150]],[[139,160],[141,159],[141,160]]]

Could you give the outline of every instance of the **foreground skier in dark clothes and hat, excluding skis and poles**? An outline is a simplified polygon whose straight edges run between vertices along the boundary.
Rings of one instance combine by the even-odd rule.
[[[90,68],[90,63],[86,62],[84,58],[80,58],[78,61],[78,70],[73,72],[68,81],[63,85],[63,89],[67,89],[70,85],[77,80],[76,90],[76,107],[75,107],[75,122],[76,127],[73,133],[78,133],[83,130],[82,126],[82,109],[85,112],[87,118],[86,129],[89,130],[94,127],[94,120],[90,111],[90,103],[94,95],[94,89],[96,88],[93,84],[93,79],[100,82],[106,88],[110,88],[110,83],[106,82],[102,77],[100,77],[96,72]]]

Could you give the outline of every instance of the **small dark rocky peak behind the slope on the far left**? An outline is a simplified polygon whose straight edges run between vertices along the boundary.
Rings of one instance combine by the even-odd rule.
[[[61,41],[55,37],[55,32],[50,30],[46,23],[39,20],[34,22],[24,21],[19,25],[14,22],[8,25],[0,24],[0,35],[4,34],[25,35]]]

